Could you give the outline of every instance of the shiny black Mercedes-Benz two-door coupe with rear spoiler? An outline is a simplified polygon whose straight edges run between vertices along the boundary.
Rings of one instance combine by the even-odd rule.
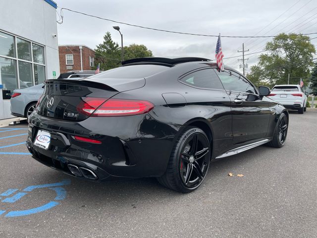
[[[157,177],[190,192],[212,160],[284,145],[288,112],[269,93],[203,58],[126,60],[85,79],[46,80],[26,145],[75,177]]]

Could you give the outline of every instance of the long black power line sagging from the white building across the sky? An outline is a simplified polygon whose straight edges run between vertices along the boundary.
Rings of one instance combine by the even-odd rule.
[[[71,10],[71,9],[65,8],[65,7],[60,8],[60,16],[62,18],[61,23],[63,22],[63,18],[64,18],[62,10],[68,10],[68,11],[72,11],[72,12],[75,12],[75,13],[78,13],[78,14],[82,14],[82,15],[85,15],[85,16],[98,18],[98,19],[101,19],[101,20],[111,21],[111,22],[115,22],[115,23],[119,23],[119,24],[123,24],[123,25],[134,26],[134,27],[139,27],[139,28],[148,29],[148,30],[162,31],[162,32],[168,32],[168,33],[176,33],[176,34],[183,34],[183,35],[192,35],[192,36],[218,37],[218,35],[207,35],[207,34],[195,34],[195,33],[179,32],[179,31],[169,31],[169,30],[163,30],[163,29],[158,29],[158,28],[134,25],[134,24],[126,23],[126,22],[115,21],[115,20],[103,18],[103,17],[100,17],[100,16],[87,14],[87,13],[80,12],[80,11]],[[313,34],[317,34],[317,32],[301,33],[301,34],[293,34],[293,35],[294,36],[298,36],[298,35],[313,35]],[[221,37],[225,37],[225,38],[270,38],[270,37],[276,37],[276,36],[221,36]]]

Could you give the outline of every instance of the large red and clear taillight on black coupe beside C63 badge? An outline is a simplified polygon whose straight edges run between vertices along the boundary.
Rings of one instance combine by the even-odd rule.
[[[103,103],[92,117],[131,116],[150,112],[154,105],[144,100],[109,99]]]

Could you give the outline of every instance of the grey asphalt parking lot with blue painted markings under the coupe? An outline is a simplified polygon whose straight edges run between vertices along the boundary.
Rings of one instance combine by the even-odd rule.
[[[31,158],[26,124],[0,127],[0,238],[317,237],[316,122],[291,113],[283,148],[212,163],[190,194],[69,177]]]

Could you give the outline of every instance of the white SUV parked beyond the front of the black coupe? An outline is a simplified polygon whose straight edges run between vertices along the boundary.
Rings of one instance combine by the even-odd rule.
[[[287,109],[298,110],[299,114],[306,111],[307,96],[299,85],[275,85],[268,97]]]

